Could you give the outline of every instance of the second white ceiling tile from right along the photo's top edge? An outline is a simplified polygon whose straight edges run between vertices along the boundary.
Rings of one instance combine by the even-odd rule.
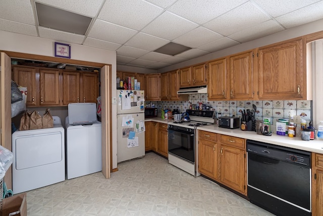
[[[245,2],[247,0],[179,0],[169,8],[169,11],[198,24],[203,24]]]

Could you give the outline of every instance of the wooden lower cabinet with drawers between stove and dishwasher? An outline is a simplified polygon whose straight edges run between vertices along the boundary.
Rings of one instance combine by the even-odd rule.
[[[199,131],[199,173],[247,195],[245,143],[241,138]]]

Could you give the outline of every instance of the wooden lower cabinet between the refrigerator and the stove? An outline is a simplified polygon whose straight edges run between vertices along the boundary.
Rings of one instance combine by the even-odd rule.
[[[168,157],[168,125],[165,123],[145,122],[145,151],[152,150]]]

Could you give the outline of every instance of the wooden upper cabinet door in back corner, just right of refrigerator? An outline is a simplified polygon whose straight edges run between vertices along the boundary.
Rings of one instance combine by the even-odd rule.
[[[160,74],[146,75],[146,100],[160,100]]]

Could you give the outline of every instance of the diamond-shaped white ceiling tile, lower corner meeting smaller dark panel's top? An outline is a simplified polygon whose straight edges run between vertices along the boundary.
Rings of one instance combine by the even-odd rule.
[[[197,25],[172,13],[165,12],[142,29],[142,32],[173,40],[196,28]]]

